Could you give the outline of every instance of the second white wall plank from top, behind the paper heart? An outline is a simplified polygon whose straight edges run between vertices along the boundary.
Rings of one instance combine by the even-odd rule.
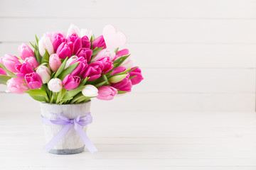
[[[34,40],[35,34],[40,38],[46,31],[66,31],[70,23],[99,35],[111,23],[126,33],[128,42],[256,43],[254,20],[0,18],[0,23],[0,41],[7,42]]]

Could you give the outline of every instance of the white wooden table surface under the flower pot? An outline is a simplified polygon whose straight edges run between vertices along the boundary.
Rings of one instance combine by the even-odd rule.
[[[99,152],[46,153],[40,113],[1,113],[0,169],[256,169],[256,113],[92,113]]]

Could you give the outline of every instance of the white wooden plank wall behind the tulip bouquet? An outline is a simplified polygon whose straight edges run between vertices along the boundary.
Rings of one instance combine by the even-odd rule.
[[[255,111],[256,1],[0,1],[0,55],[70,23],[127,34],[144,81],[97,111]],[[5,86],[0,85],[1,91]],[[38,109],[27,95],[0,94],[1,111]]]

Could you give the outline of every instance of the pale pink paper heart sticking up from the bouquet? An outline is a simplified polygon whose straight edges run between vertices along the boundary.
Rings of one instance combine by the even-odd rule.
[[[122,47],[127,41],[127,37],[124,33],[117,33],[116,28],[111,25],[107,25],[103,28],[103,37],[108,49]]]

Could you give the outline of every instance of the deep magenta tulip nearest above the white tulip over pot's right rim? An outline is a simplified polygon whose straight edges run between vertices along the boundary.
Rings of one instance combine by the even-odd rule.
[[[85,73],[82,75],[82,79],[85,79],[85,77],[90,77],[88,81],[92,81],[99,78],[103,68],[104,64],[102,64],[102,62],[92,62],[88,64],[87,68],[85,69]]]

